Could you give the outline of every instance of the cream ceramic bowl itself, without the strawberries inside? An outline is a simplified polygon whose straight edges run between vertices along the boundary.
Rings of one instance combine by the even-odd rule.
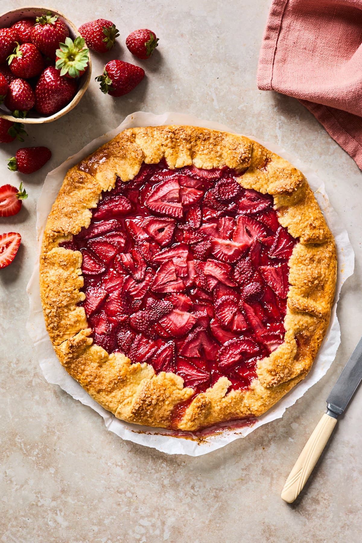
[[[54,15],[59,15],[59,17],[65,21],[69,28],[69,33],[71,35],[71,38],[74,40],[75,37],[79,36],[79,32],[77,27],[72,23],[72,21],[69,21],[69,19],[60,13],[59,11],[53,9],[53,8],[44,8],[42,6],[34,6],[34,7],[25,7],[25,8],[18,8],[18,9],[12,9],[11,11],[7,11],[6,13],[3,13],[0,15],[0,28],[6,28],[11,27],[12,24],[16,23],[16,21],[24,18],[24,17],[39,17],[40,15],[46,14],[48,11],[51,11]],[[92,62],[91,57],[88,54],[88,68],[84,75],[79,79],[79,87],[77,94],[75,94],[72,102],[69,102],[63,109],[60,111],[57,111],[54,113],[54,115],[49,115],[48,117],[44,117],[42,115],[39,115],[36,111],[29,112],[29,117],[26,117],[24,119],[17,119],[9,113],[9,111],[4,107],[4,105],[0,105],[0,117],[3,119],[8,119],[8,121],[15,121],[15,122],[21,122],[24,124],[41,124],[41,123],[51,123],[52,121],[55,121],[55,119],[59,119],[59,117],[62,117],[68,111],[71,111],[79,102],[85,91],[87,90],[87,87],[89,85],[91,74],[92,74]]]

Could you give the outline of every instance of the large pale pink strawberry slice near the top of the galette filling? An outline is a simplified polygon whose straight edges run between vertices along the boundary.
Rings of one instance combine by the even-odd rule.
[[[180,203],[180,185],[176,178],[166,179],[154,185],[145,205],[156,213],[181,219],[183,215]]]

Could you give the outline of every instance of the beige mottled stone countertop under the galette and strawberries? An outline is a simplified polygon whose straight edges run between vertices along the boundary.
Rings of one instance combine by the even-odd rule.
[[[103,4],[103,7],[100,7]],[[2,0],[1,11],[20,7]],[[293,98],[258,91],[258,53],[270,0],[64,0],[78,26],[116,23],[118,45],[93,54],[93,74],[112,58],[134,61],[125,38],[150,28],[160,38],[147,77],[125,97],[104,96],[92,77],[80,104],[54,123],[29,127],[26,146],[47,145],[39,172],[9,172],[18,144],[0,148],[1,184],[29,198],[0,231],[18,231],[16,261],[0,273],[0,541],[5,543],[293,542],[362,540],[362,390],[355,395],[303,495],[280,498],[285,478],[326,407],[326,397],[362,334],[361,172]],[[99,6],[99,7],[98,7]],[[26,332],[26,285],[36,259],[35,207],[50,169],[137,110],[180,111],[274,141],[325,182],[355,251],[355,273],[339,303],[341,346],[326,376],[283,418],[206,456],[168,456],[122,441],[92,409],[46,382]]]

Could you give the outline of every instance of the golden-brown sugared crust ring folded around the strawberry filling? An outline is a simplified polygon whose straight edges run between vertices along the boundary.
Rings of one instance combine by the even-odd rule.
[[[119,352],[93,344],[85,311],[79,251],[59,247],[91,222],[91,209],[116,177],[131,180],[142,162],[166,158],[170,168],[234,168],[245,188],[274,197],[280,223],[299,238],[290,257],[285,340],[257,363],[248,390],[231,390],[227,377],[189,400],[192,388],[173,373],[155,375],[147,363],[132,364]],[[246,137],[198,127],[131,128],[71,168],[43,235],[41,300],[47,330],[60,362],[87,392],[117,418],[136,424],[194,431],[221,421],[259,416],[301,381],[325,336],[334,298],[336,250],[314,194],[303,174]]]

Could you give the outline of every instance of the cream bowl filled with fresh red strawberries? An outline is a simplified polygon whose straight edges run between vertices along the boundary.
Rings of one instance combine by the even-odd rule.
[[[91,72],[84,38],[59,11],[26,7],[0,15],[0,117],[55,121],[78,104]]]

